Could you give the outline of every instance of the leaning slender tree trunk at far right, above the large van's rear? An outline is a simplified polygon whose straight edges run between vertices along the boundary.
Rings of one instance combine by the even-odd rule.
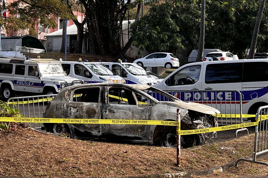
[[[261,24],[261,17],[263,16],[264,5],[265,5],[265,0],[261,0],[258,15],[257,15],[255,26],[254,26],[254,31],[252,34],[248,59],[254,59],[254,53],[255,53],[256,44],[257,44],[258,32],[259,32],[259,28]]]

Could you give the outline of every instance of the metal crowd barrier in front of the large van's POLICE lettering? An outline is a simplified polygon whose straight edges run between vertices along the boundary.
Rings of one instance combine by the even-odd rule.
[[[243,123],[242,94],[238,90],[165,90],[165,92],[179,98],[184,102],[196,102],[218,109],[217,115],[220,125],[233,125]],[[151,93],[159,101],[168,101],[163,95]],[[236,131],[248,130],[246,128]]]

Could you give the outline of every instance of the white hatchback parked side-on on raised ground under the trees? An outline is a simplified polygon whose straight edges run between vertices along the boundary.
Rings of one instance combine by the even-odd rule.
[[[137,63],[141,67],[180,67],[179,59],[172,53],[152,53],[146,57],[136,59],[133,63]]]

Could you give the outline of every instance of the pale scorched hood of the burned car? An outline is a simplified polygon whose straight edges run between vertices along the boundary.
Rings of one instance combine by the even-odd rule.
[[[165,101],[165,103],[169,106],[179,107],[179,108],[192,110],[192,111],[197,111],[200,113],[220,114],[220,111],[218,109],[215,109],[215,108],[207,106],[207,105],[195,103],[195,102],[183,102],[183,101],[178,100],[178,101],[174,101],[174,102]]]

